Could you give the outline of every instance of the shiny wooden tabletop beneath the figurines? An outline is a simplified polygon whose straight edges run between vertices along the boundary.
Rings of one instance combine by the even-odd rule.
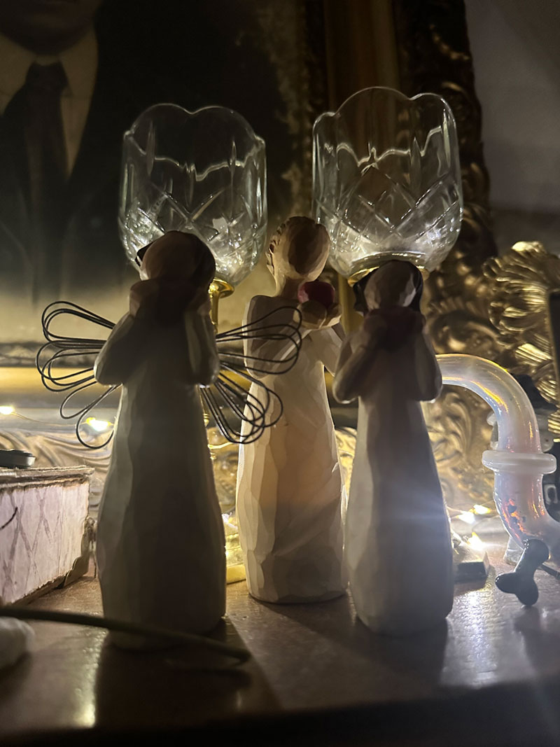
[[[455,587],[447,625],[408,639],[371,634],[349,596],[275,606],[244,582],[228,586],[215,634],[249,648],[240,666],[193,649],[120,651],[104,630],[34,623],[33,654],[0,672],[0,740],[56,734],[60,744],[60,731],[83,729],[81,741],[123,730],[174,743],[172,730],[204,727],[262,745],[556,743],[560,582],[538,571],[532,608],[499,592],[495,575],[511,570],[502,542],[487,546],[486,583]],[[32,606],[101,613],[99,583],[85,578]]]

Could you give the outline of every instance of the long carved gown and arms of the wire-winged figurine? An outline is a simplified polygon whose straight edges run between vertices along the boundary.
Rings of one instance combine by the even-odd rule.
[[[97,536],[108,617],[203,633],[223,616],[223,521],[198,387],[217,370],[211,322],[193,311],[172,326],[127,314],[99,353],[96,378],[122,382]]]

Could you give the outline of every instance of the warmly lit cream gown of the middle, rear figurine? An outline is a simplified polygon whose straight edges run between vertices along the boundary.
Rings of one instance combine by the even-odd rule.
[[[279,297],[255,297],[246,321],[287,303]],[[240,543],[249,592],[264,601],[319,601],[342,594],[346,586],[342,485],[324,373],[325,367],[335,370],[342,335],[340,326],[305,334],[294,368],[264,376],[263,382],[281,397],[283,415],[258,441],[240,447]],[[275,341],[249,341],[247,353],[281,354]],[[258,388],[253,386],[252,393],[258,396]]]

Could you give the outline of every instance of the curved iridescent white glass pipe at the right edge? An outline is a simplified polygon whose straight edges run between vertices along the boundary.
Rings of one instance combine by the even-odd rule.
[[[504,368],[476,356],[437,356],[444,384],[462,386],[482,397],[498,425],[496,449],[482,454],[494,470],[494,501],[505,529],[520,548],[536,537],[560,563],[560,523],[547,512],[543,474],[556,470],[556,458],[541,452],[541,439],[529,397]]]

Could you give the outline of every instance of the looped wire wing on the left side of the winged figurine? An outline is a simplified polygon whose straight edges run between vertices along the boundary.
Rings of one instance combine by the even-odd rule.
[[[101,449],[107,446],[113,438],[112,432],[103,443],[91,444],[84,440],[81,430],[90,412],[117,388],[116,386],[102,387],[93,375],[93,365],[99,350],[105,344],[106,338],[82,338],[57,334],[54,330],[55,321],[57,323],[63,320],[67,322],[69,317],[92,323],[96,328],[102,327],[111,330],[114,326],[114,323],[105,319],[105,317],[101,317],[93,311],[88,311],[75,303],[55,301],[55,303],[49,304],[41,317],[46,343],[37,352],[35,359],[37,371],[40,373],[43,385],[49,391],[66,393],[58,411],[60,417],[64,420],[78,418],[75,426],[78,441],[90,449]],[[86,405],[77,405],[76,402],[81,399],[81,392],[92,387],[101,388],[101,393],[96,394],[93,400]],[[91,394],[93,394],[93,390]]]

